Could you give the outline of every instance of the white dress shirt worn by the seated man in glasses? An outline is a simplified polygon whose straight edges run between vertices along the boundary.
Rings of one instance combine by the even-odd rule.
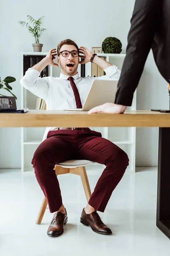
[[[84,105],[94,79],[119,80],[121,71],[116,66],[112,65],[107,67],[104,71],[106,75],[99,77],[79,77],[78,73],[73,76],[74,83],[79,91],[82,106]],[[77,108],[74,92],[70,81],[68,80],[69,76],[63,75],[62,73],[60,73],[59,77],[47,76],[41,78],[39,76],[39,71],[29,68],[26,71],[25,76],[20,80],[20,83],[31,93],[34,93],[37,97],[44,99],[47,110]],[[48,131],[55,129],[57,129],[57,127],[47,127],[43,140],[47,137]]]

